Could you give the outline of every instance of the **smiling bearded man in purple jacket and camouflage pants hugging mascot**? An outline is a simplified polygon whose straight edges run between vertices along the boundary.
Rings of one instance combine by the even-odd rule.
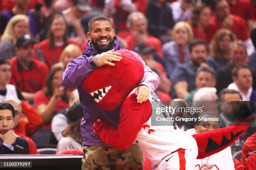
[[[82,145],[84,151],[84,159],[82,170],[92,169],[140,169],[142,168],[142,152],[138,145],[133,143],[127,150],[120,150],[109,147],[103,143],[92,131],[93,122],[97,119],[110,122],[114,127],[118,126],[120,108],[105,111],[100,109],[96,102],[100,102],[104,96],[104,90],[98,90],[95,101],[93,97],[83,90],[83,80],[102,65],[111,65],[115,67],[112,61],[120,61],[119,52],[120,43],[114,36],[114,30],[109,18],[105,16],[96,16],[88,23],[89,32],[87,37],[90,40],[83,54],[67,65],[62,77],[62,83],[66,87],[77,87],[80,102],[83,107],[84,118],[81,122]],[[129,51],[129,50],[128,50]],[[130,51],[132,52],[132,51]],[[156,73],[152,72],[138,54],[133,52],[144,66],[144,76],[140,82],[138,90],[136,90],[137,102],[148,100],[151,92],[153,92],[160,83],[160,78]],[[99,77],[101,78],[101,77]],[[108,89],[107,89],[108,90]]]

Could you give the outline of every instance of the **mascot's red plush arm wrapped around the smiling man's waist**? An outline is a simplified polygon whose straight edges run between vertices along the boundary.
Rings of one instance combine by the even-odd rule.
[[[138,132],[150,116],[150,101],[138,103],[136,95],[132,94],[122,105],[118,128],[115,129],[112,125],[102,120],[95,121],[95,134],[106,144],[125,150],[134,142]]]

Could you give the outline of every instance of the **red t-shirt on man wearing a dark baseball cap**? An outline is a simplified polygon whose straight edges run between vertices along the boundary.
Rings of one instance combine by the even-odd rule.
[[[12,77],[10,84],[17,86],[20,91],[35,93],[45,87],[48,67],[44,62],[33,60],[29,70],[24,70],[17,57],[10,59]]]

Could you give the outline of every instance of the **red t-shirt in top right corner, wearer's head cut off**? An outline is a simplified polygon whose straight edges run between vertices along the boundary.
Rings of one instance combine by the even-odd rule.
[[[254,20],[253,10],[245,0],[236,0],[236,5],[228,3],[230,13],[237,15],[244,20]]]

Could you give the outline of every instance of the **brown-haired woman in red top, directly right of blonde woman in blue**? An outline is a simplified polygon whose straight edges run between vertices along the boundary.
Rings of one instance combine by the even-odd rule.
[[[208,42],[207,36],[205,34],[205,28],[209,25],[210,15],[210,7],[206,5],[199,5],[195,7],[189,21],[194,33],[194,38]]]

